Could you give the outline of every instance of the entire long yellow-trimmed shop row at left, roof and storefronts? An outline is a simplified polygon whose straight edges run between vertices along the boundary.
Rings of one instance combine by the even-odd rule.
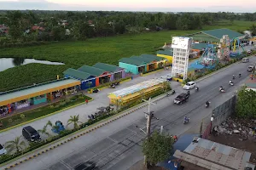
[[[60,98],[62,95],[74,94],[77,93],[80,84],[77,80],[62,79],[5,92],[0,94],[0,110],[10,113]]]

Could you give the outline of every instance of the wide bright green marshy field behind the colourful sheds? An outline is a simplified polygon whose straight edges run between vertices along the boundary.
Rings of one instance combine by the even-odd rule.
[[[225,24],[226,23],[226,24]],[[218,26],[217,26],[218,25]],[[205,26],[203,30],[230,28],[234,31],[246,30],[252,22],[222,21],[216,26]],[[45,59],[59,61],[66,65],[29,64],[11,68],[0,72],[0,92],[12,88],[19,88],[32,83],[52,80],[56,75],[62,76],[62,71],[81,65],[94,65],[104,62],[118,65],[118,60],[140,54],[155,54],[155,50],[171,42],[172,36],[184,36],[196,31],[160,31],[137,35],[123,35],[116,37],[99,37],[84,42],[60,42],[49,45],[27,48],[3,48],[0,57],[19,56],[23,58]]]

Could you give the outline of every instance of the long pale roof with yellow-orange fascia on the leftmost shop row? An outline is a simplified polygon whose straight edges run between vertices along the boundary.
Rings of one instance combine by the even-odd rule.
[[[0,105],[8,105],[23,99],[30,99],[39,95],[48,94],[63,88],[70,88],[79,84],[81,84],[81,82],[78,80],[64,79],[45,84],[38,84],[32,88],[25,88],[6,94],[0,94]]]

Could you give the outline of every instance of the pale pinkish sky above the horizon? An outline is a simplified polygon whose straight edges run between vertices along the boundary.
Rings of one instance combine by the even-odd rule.
[[[256,0],[0,0],[0,9],[256,12]]]

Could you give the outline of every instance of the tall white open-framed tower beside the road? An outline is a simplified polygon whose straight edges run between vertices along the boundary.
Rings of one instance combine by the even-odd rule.
[[[189,52],[193,39],[190,37],[172,37],[173,59],[172,77],[188,76]]]

